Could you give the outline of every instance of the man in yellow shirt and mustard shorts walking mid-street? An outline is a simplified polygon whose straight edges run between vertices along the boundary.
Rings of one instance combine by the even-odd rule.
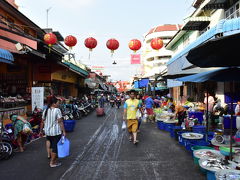
[[[138,120],[136,117],[137,110],[141,110],[139,100],[135,98],[135,91],[130,91],[130,99],[126,100],[124,104],[123,119],[127,120],[128,132],[130,134],[129,141],[133,141],[133,144],[137,144],[137,129]]]

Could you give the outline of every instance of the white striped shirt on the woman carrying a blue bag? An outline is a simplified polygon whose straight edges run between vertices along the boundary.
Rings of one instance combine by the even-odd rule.
[[[49,108],[45,118],[46,110],[43,112],[44,132],[47,136],[57,136],[62,134],[58,119],[62,118],[62,113],[59,108]]]

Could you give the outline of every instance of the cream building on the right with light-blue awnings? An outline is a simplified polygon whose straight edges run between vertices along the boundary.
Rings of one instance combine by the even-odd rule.
[[[222,103],[226,102],[229,83],[182,84],[172,79],[209,70],[209,68],[196,68],[186,56],[191,49],[209,40],[239,31],[240,26],[234,22],[239,19],[239,3],[240,1],[237,0],[195,0],[192,4],[195,8],[194,12],[184,19],[181,29],[166,44],[166,49],[173,53],[173,57],[167,63],[166,77],[169,78],[171,95],[178,102],[184,102],[190,97],[195,101],[203,100],[203,91],[206,89],[210,89],[212,95],[216,95]]]

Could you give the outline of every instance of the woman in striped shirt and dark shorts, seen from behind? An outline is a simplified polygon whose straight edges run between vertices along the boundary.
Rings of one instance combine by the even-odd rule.
[[[47,109],[43,112],[42,119],[44,121],[41,132],[44,132],[47,136],[47,140],[50,141],[51,148],[51,160],[50,167],[58,167],[61,163],[57,162],[57,143],[61,139],[62,135],[66,136],[66,132],[63,125],[63,117],[61,110],[58,108],[59,101],[56,97],[50,99]]]

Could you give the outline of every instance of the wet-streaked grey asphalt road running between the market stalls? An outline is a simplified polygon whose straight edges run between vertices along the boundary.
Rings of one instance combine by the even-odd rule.
[[[155,124],[143,124],[140,143],[134,146],[121,130],[122,110],[107,107],[106,111],[104,117],[92,113],[77,122],[75,131],[68,134],[71,156],[61,160],[61,167],[48,166],[41,139],[24,153],[1,161],[0,179],[205,179],[191,155],[169,133],[159,131]]]

